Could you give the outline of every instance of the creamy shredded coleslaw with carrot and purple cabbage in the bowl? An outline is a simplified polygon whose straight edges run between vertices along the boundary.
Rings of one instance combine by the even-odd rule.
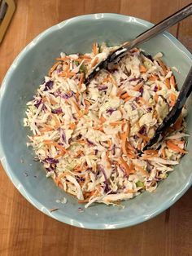
[[[153,192],[185,151],[185,108],[157,149],[138,152],[175,104],[172,69],[158,53],[134,48],[85,86],[85,76],[116,47],[85,55],[61,53],[27,104],[28,146],[57,186],[85,208],[118,205]]]

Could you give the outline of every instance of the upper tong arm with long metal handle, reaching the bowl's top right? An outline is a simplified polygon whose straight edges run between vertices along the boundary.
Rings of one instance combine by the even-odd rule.
[[[159,22],[159,24],[155,24],[155,26],[153,26],[151,29],[148,29],[144,33],[141,33],[139,36],[137,36],[137,38],[133,39],[132,41],[124,42],[124,44],[120,46],[120,48],[116,49],[116,51],[112,51],[107,56],[106,60],[101,61],[95,66],[92,72],[89,73],[88,77],[85,78],[85,85],[87,86],[101,69],[109,69],[110,64],[118,63],[129,50],[133,49],[133,47],[141,44],[142,42],[146,42],[151,38],[154,38],[155,35],[164,32],[164,30],[170,28],[174,24],[177,24],[177,22],[184,20],[191,14],[192,3],[182,8],[180,11],[177,11],[173,15],[169,16],[165,20],[162,20],[161,22]]]

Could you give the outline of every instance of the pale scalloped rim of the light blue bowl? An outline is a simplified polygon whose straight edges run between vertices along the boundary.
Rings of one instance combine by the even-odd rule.
[[[142,20],[137,17],[133,17],[133,16],[129,16],[129,15],[120,15],[120,14],[116,14],[116,13],[95,13],[95,14],[90,14],[90,15],[75,16],[68,20],[63,20],[59,24],[55,24],[54,26],[50,27],[49,29],[44,30],[43,32],[38,34],[36,38],[34,38],[31,42],[29,42],[28,45],[25,46],[22,51],[20,51],[20,54],[17,55],[17,57],[11,64],[11,67],[8,69],[4,79],[2,80],[2,86],[0,88],[0,110],[2,109],[3,95],[4,95],[5,91],[7,90],[8,78],[11,77],[12,71],[20,63],[20,60],[22,60],[24,58],[24,55],[28,51],[30,51],[31,48],[36,46],[37,42],[43,40],[43,38],[46,36],[46,34],[50,34],[57,29],[62,29],[64,26],[66,26],[69,23],[76,22],[78,20],[87,20],[87,19],[98,20],[98,19],[103,19],[103,18],[108,18],[108,19],[113,18],[116,20],[126,20],[126,22],[129,22],[129,23],[133,22],[133,23],[142,24],[146,27],[146,29],[151,28],[153,26],[153,24],[149,21]],[[172,34],[170,34],[168,32],[164,32],[162,34],[164,35],[164,37],[168,38],[171,42],[173,42],[174,44],[177,44],[177,47],[182,49],[182,52],[185,54],[185,57],[187,57],[191,61],[191,64],[192,64],[190,51],[188,51],[185,48],[185,46],[183,46],[181,44],[181,42],[179,42],[177,40],[177,38],[172,36]],[[33,206],[35,206],[38,210],[41,210],[41,212],[43,212],[44,214],[46,214],[52,218],[55,218],[62,223],[67,223],[72,226],[84,227],[84,228],[88,228],[88,229],[116,229],[116,228],[122,228],[122,227],[131,227],[138,223],[142,223],[142,222],[162,213],[164,210],[168,209],[168,207],[173,205],[179,198],[181,198],[181,196],[190,188],[190,186],[192,184],[192,179],[189,179],[185,183],[185,186],[183,188],[181,188],[180,191],[177,192],[176,195],[172,196],[172,199],[170,201],[165,201],[164,204],[161,205],[160,208],[153,210],[151,212],[151,214],[148,214],[147,216],[140,216],[139,218],[134,218],[132,221],[127,220],[126,222],[117,222],[117,223],[112,223],[112,224],[108,224],[108,225],[105,223],[94,224],[94,223],[88,223],[85,221],[80,222],[80,221],[77,221],[76,219],[68,218],[67,216],[65,216],[63,214],[59,214],[59,212],[56,212],[56,211],[50,213],[50,211],[48,209],[46,209],[46,207],[40,201],[35,199],[31,195],[30,192],[26,191],[24,189],[23,185],[20,183],[20,180],[15,177],[14,170],[12,170],[11,166],[9,166],[7,158],[5,157],[5,153],[3,151],[3,145],[2,145],[1,138],[0,138],[0,160],[2,161],[2,166],[3,166],[4,170],[6,171],[8,177],[11,179],[11,182],[15,185],[15,188],[17,188],[19,190],[19,192],[25,197],[25,199],[27,201],[29,201]]]

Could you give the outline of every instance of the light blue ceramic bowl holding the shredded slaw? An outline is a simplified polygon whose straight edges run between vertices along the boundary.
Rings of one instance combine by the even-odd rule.
[[[25,104],[32,99],[37,86],[61,51],[89,52],[93,42],[120,44],[136,37],[151,27],[151,23],[116,14],[82,15],[47,29],[20,53],[9,68],[1,88],[1,145],[0,156],[4,169],[21,194],[37,209],[63,223],[92,229],[129,227],[142,223],[166,210],[190,188],[192,182],[192,154],[183,157],[168,179],[159,183],[156,192],[143,192],[141,196],[125,201],[124,209],[94,205],[83,212],[76,200],[46,179],[41,165],[33,161],[33,151],[26,148],[27,132],[23,127]],[[178,85],[181,87],[192,64],[190,52],[164,33],[142,45],[151,55],[162,51],[169,66],[176,66]],[[191,106],[189,106],[192,111]],[[192,131],[192,114],[188,117],[188,130]],[[192,152],[192,139],[188,150]],[[22,162],[22,160],[24,162]],[[24,173],[28,173],[28,177]],[[66,205],[55,201],[67,197]],[[49,209],[59,208],[50,213]]]

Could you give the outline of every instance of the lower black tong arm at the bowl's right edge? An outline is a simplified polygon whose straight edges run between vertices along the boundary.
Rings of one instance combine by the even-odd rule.
[[[168,113],[167,117],[164,117],[161,125],[155,131],[155,135],[150,139],[146,146],[142,149],[145,151],[147,148],[151,148],[155,143],[159,142],[164,138],[164,133],[168,129],[168,127],[172,126],[177,118],[181,114],[181,110],[186,102],[186,99],[190,96],[192,91],[192,67],[190,68],[190,72],[185,79],[185,82],[180,90],[178,95],[176,104],[173,106],[172,110]]]

